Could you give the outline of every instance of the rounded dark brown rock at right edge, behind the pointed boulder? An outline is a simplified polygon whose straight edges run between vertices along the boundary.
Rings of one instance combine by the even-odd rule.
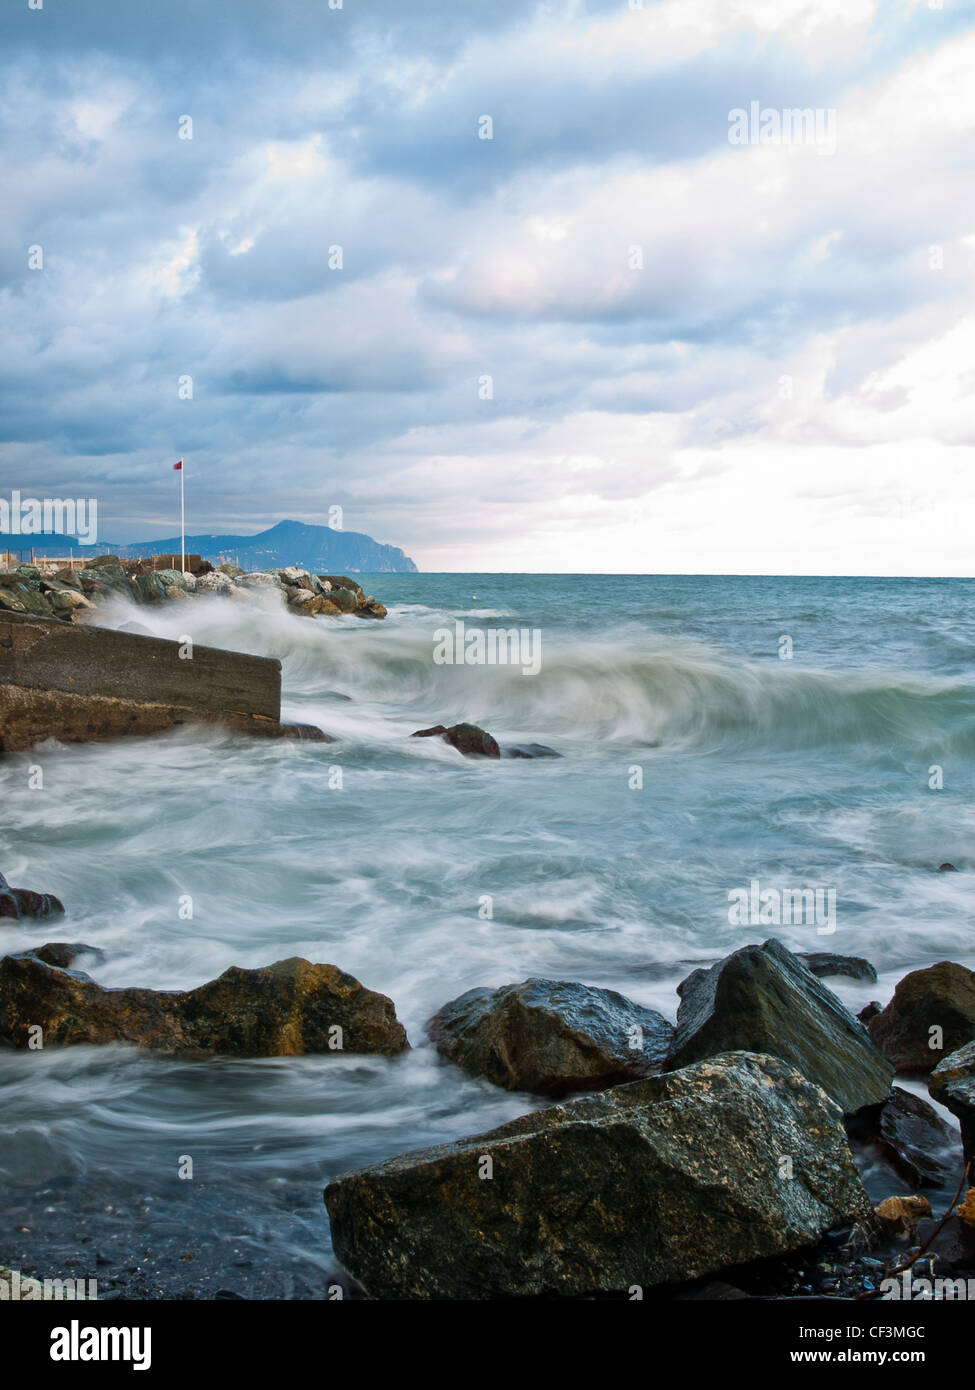
[[[975,972],[939,960],[904,976],[869,1034],[899,1072],[930,1072],[939,1058],[975,1040]],[[930,1030],[942,1047],[932,1048]]]

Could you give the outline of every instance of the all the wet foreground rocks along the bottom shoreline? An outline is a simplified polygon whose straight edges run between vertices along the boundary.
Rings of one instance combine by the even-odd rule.
[[[3,887],[17,920],[61,906]],[[231,969],[166,992],[106,990],[75,967],[102,959],[78,942],[0,959],[0,1044],[29,1048],[40,1027],[50,1047],[124,1042],[200,1066],[410,1048],[394,1002],[332,965]],[[332,1277],[395,1300],[876,1298],[905,1272],[975,1279],[975,1194],[958,1183],[975,1156],[975,973],[911,972],[864,1024],[769,940],[677,994],[676,1024],[574,981],[445,1004],[426,1029],[442,1065],[535,1108],[334,1179],[324,1200],[345,1272]],[[904,1058],[961,1143],[893,1084]],[[864,1186],[878,1155],[894,1175],[879,1201]]]

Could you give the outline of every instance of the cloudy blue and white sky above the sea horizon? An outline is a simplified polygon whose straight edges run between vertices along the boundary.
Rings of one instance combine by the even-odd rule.
[[[971,575],[974,78],[975,0],[3,0],[0,493]]]

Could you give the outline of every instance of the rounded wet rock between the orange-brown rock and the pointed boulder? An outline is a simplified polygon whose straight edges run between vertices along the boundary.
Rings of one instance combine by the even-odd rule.
[[[673,1027],[613,990],[524,980],[467,990],[430,1019],[427,1034],[472,1076],[508,1091],[566,1095],[655,1076]]]

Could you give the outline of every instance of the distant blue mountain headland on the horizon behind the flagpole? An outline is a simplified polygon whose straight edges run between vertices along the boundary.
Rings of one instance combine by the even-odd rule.
[[[110,545],[99,541],[82,546],[68,535],[0,535],[0,550],[29,550],[36,555],[178,555],[179,537],[161,541],[135,541],[131,545]],[[282,569],[296,564],[314,574],[416,574],[416,564],[395,545],[382,545],[360,531],[332,531],[327,525],[306,525],[302,521],[278,521],[257,535],[188,535],[186,555],[200,555],[211,564],[221,559],[245,570]]]

